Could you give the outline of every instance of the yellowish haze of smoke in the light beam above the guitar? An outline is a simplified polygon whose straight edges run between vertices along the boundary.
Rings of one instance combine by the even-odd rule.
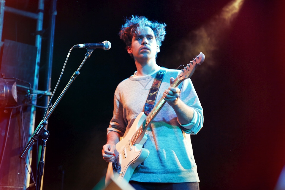
[[[202,52],[205,55],[205,62],[203,66],[199,66],[199,71],[202,74],[209,74],[210,69],[219,64],[219,60],[215,60],[214,57],[215,51],[219,50],[219,44],[225,40],[243,2],[244,0],[230,2],[222,9],[220,15],[210,19],[199,29],[191,31],[185,39],[181,39],[174,45],[178,47],[177,51],[163,61],[165,66],[173,68],[174,64],[186,65]]]

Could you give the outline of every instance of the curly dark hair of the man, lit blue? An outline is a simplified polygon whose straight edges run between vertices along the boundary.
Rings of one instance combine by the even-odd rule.
[[[132,15],[129,19],[126,18],[126,23],[122,25],[121,31],[119,32],[120,38],[126,43],[126,47],[132,44],[133,36],[136,36],[138,31],[143,29],[145,26],[148,26],[153,30],[156,43],[161,46],[166,34],[166,24],[159,23],[156,20],[150,21],[144,16]]]

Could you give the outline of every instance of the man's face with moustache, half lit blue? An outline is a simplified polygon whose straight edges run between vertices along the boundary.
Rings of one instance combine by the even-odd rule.
[[[153,30],[145,26],[141,31],[138,31],[137,36],[133,36],[132,44],[128,47],[128,53],[132,53],[135,60],[151,59],[156,57],[159,45],[156,44],[156,39]]]

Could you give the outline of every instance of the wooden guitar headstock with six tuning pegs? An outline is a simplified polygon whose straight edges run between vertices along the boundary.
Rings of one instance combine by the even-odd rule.
[[[182,72],[178,75],[178,79],[182,81],[187,78],[190,78],[193,75],[195,68],[197,67],[197,64],[199,65],[202,64],[204,59],[205,55],[202,52],[200,52],[199,55],[193,58],[193,60],[190,61],[189,64],[187,64],[187,66],[184,67],[184,69],[182,69]]]

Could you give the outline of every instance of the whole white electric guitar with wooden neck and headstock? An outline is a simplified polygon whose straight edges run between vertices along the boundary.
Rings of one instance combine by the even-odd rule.
[[[183,80],[190,78],[197,64],[202,64],[204,59],[205,55],[200,52],[196,58],[193,58],[193,60],[182,69],[182,72],[170,86],[177,87]],[[165,103],[165,100],[161,98],[148,115],[141,112],[134,120],[126,137],[116,144],[117,153],[115,161],[109,162],[105,179],[106,185],[108,185],[111,180],[120,183],[124,179],[124,181],[129,182],[136,167],[148,157],[149,151],[143,148],[148,138],[145,131]]]

